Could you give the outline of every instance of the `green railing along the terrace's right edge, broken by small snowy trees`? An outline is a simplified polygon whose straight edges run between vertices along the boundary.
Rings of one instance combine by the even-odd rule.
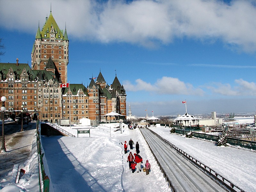
[[[190,131],[175,129],[175,133],[186,135]],[[216,135],[208,135],[205,133],[193,132],[193,136],[200,139],[210,140],[210,141],[218,141],[219,136]],[[247,149],[256,150],[256,141],[249,141],[237,138],[227,137],[227,143],[233,146],[239,146]]]

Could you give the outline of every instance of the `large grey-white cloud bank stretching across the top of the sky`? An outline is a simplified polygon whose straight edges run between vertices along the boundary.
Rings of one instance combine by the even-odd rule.
[[[34,32],[40,20],[43,27],[50,11],[61,29],[67,23],[68,35],[103,43],[128,42],[143,46],[170,43],[173,38],[202,41],[221,39],[231,48],[256,51],[256,7],[253,1],[232,0],[89,0],[1,1],[0,26]]]

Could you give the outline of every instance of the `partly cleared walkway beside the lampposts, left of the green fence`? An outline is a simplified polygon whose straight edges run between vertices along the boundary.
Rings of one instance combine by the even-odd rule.
[[[5,139],[7,152],[0,153],[0,182],[11,178],[14,164],[21,166],[30,158],[36,122],[24,125],[23,129],[23,132],[12,133]]]

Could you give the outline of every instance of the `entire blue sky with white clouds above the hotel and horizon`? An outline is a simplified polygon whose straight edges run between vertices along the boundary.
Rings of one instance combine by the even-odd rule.
[[[0,0],[0,59],[31,66],[52,6],[67,26],[70,83],[101,71],[110,85],[117,74],[135,116],[184,114],[183,100],[190,114],[254,113],[256,3],[226,2]]]

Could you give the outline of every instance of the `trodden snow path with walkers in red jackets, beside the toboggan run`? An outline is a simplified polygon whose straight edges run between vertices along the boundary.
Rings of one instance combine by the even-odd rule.
[[[124,154],[124,146],[122,145],[122,154],[124,161],[124,191],[171,191],[163,177],[162,172],[159,170],[155,158],[153,157],[150,149],[148,148],[148,144],[142,137],[139,129],[127,129],[126,132],[120,134],[120,136],[116,135],[116,138],[118,138],[118,140],[122,143],[124,143],[125,140],[128,143],[130,139],[133,140],[134,144],[136,144],[136,142],[138,141],[138,143],[140,144],[140,156],[143,158],[143,164],[141,165],[145,166],[147,159],[151,164],[151,172],[149,173],[149,175],[146,175],[146,172],[143,171],[137,173],[137,170],[132,173],[132,171],[129,169],[129,163],[127,163],[127,157],[130,151],[132,151],[132,154],[136,153],[135,146],[133,146],[132,150],[130,150],[130,147],[128,146],[127,154]],[[162,183],[160,186],[159,182]]]

